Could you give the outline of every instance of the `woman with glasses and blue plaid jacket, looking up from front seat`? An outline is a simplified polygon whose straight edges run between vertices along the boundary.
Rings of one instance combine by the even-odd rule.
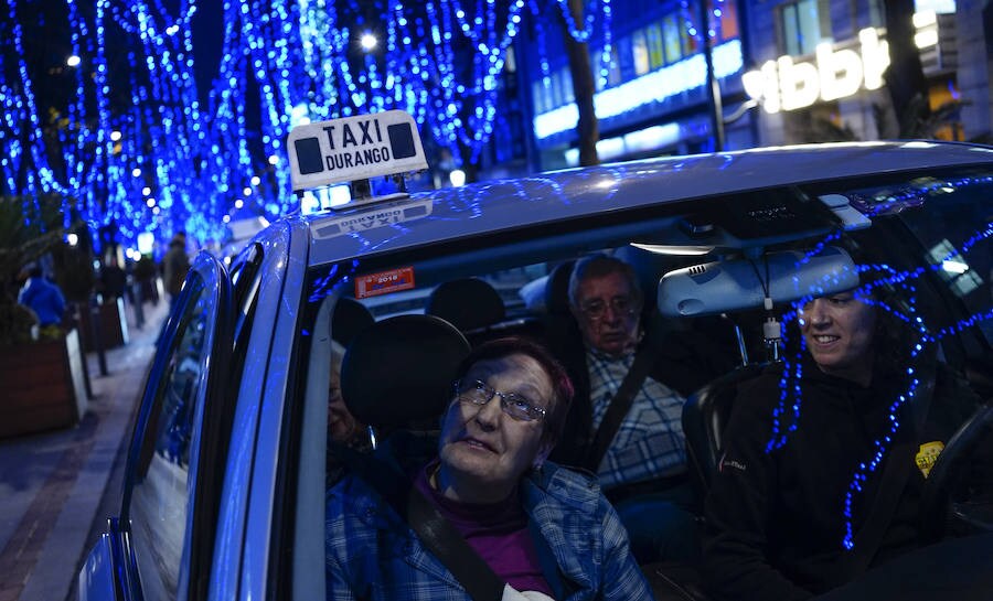
[[[651,599],[596,481],[545,461],[573,387],[543,347],[480,345],[452,385],[437,455],[414,486],[506,582],[504,599]],[[404,463],[407,452],[394,458]],[[329,493],[329,599],[470,599],[389,505],[357,477]],[[523,594],[523,597],[522,597]]]

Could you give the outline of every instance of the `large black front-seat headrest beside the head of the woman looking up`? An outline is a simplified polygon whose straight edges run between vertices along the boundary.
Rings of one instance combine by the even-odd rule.
[[[355,418],[381,428],[437,417],[469,343],[433,315],[397,315],[359,332],[341,366],[341,394]]]

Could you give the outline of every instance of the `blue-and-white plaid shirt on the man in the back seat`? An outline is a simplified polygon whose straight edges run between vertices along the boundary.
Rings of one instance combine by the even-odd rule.
[[[596,429],[634,363],[634,354],[615,358],[588,351],[586,363],[589,366],[589,398]],[[664,384],[651,377],[644,379],[600,461],[597,475],[604,490],[685,471],[684,403],[679,393]]]

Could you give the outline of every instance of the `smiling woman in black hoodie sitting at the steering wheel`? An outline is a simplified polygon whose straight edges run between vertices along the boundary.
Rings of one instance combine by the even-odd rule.
[[[925,479],[979,398],[948,366],[914,356],[893,315],[906,314],[898,299],[864,294],[804,304],[798,361],[739,389],[706,503],[704,582],[715,599],[808,599],[920,545]],[[914,379],[931,367],[928,398]],[[895,470],[903,475],[884,475]],[[882,483],[894,501],[877,505],[889,498]]]

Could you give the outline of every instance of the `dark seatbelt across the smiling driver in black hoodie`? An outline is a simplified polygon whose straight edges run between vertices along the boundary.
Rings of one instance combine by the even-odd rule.
[[[889,524],[893,522],[893,514],[896,511],[900,495],[907,485],[907,477],[910,475],[910,469],[914,465],[914,458],[917,453],[918,440],[923,430],[925,421],[928,417],[928,408],[931,405],[931,397],[935,394],[935,366],[933,357],[925,357],[921,364],[927,362],[927,368],[919,369],[920,385],[917,394],[911,398],[911,414],[914,431],[909,440],[895,443],[886,458],[886,465],[883,469],[883,475],[879,480],[879,487],[873,500],[873,505],[863,522],[862,528],[855,534],[854,547],[843,568],[847,572],[847,580],[861,575],[868,569],[873,558],[883,544],[883,538]]]

